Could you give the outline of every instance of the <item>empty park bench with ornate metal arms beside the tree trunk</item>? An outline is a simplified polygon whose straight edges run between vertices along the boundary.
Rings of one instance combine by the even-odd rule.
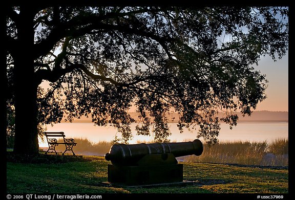
[[[73,151],[73,146],[76,146],[77,143],[75,143],[75,140],[72,138],[67,139],[64,132],[44,132],[44,134],[46,136],[49,147],[45,154],[47,154],[47,152],[49,152],[50,150],[51,152],[54,151],[55,154],[57,154],[55,147],[59,144],[64,144],[66,146],[66,150],[62,153],[62,155],[64,155],[66,151],[72,151],[73,155],[75,155]],[[64,139],[64,142],[58,142],[58,140],[56,139],[58,137],[62,137]]]

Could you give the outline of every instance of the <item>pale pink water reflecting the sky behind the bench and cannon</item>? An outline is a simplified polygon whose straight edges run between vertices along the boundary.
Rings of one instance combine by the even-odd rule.
[[[137,136],[135,132],[136,123],[132,124],[133,139],[130,144],[138,141],[151,141],[152,136]],[[189,132],[184,129],[180,134],[177,124],[169,124],[172,136],[168,137],[171,142],[193,141],[196,139],[197,130]],[[112,126],[94,126],[93,123],[59,123],[48,126],[47,131],[64,131],[67,138],[88,139],[91,142],[111,141],[115,136],[121,135]],[[288,139],[288,123],[286,122],[241,122],[233,129],[229,129],[228,124],[221,124],[220,141],[249,141],[249,142],[272,142],[276,139]],[[202,139],[200,139],[203,141]],[[39,141],[40,147],[48,147],[47,142]]]

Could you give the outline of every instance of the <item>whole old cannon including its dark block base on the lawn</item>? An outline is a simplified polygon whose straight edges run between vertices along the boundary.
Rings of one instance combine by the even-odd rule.
[[[183,164],[177,157],[201,155],[203,144],[193,142],[114,144],[104,155],[108,182],[123,185],[151,185],[183,182]]]

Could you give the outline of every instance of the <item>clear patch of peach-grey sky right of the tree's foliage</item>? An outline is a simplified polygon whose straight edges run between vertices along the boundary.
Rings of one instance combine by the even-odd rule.
[[[258,103],[256,110],[288,111],[288,52],[281,60],[262,57],[256,70],[266,75],[267,99]]]

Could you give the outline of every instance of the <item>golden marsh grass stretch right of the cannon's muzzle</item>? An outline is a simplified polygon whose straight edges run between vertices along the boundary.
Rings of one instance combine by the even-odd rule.
[[[241,165],[288,166],[288,140],[267,142],[221,142],[203,145],[200,156],[188,155],[184,162],[235,163]]]

